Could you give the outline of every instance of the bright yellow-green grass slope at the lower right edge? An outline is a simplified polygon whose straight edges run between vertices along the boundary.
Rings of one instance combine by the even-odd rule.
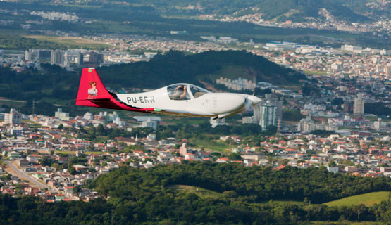
[[[362,195],[354,195],[347,198],[341,198],[332,202],[325,203],[327,206],[344,206],[344,205],[359,205],[364,204],[366,206],[372,206],[375,203],[380,203],[382,200],[389,198],[390,192],[379,191],[371,192]]]

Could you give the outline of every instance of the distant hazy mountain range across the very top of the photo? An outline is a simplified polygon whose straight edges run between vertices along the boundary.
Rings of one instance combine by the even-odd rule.
[[[390,18],[391,3],[389,1],[371,0],[123,0],[123,1],[67,1],[66,4],[54,0],[30,0],[23,3],[40,3],[48,5],[89,5],[116,7],[137,6],[138,10],[156,11],[162,15],[245,15],[261,13],[266,20],[302,21],[306,17],[321,18],[318,12],[325,8],[330,15],[348,22],[364,22],[377,20],[380,17]],[[85,8],[89,10],[89,8]],[[125,13],[126,14],[126,13]],[[118,15],[116,15],[118,16]]]

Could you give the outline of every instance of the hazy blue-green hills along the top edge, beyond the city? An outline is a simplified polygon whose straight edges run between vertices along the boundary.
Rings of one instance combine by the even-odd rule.
[[[120,3],[98,0],[75,1],[73,4],[68,4],[68,2],[66,4],[47,4],[44,1],[17,1],[17,4],[7,3],[6,6],[24,4],[25,7],[39,10],[48,10],[56,6],[63,11],[73,11],[84,18],[116,21],[154,20],[159,15],[191,17],[199,14],[244,15],[252,13],[261,13],[266,20],[282,17],[280,19],[299,21],[306,17],[319,18],[318,12],[321,8],[327,9],[331,15],[337,18],[349,22],[361,22],[369,20],[368,16],[378,18],[379,15],[389,16],[390,14],[386,7],[369,5],[371,0],[125,0]],[[26,4],[32,2],[35,4]],[[98,9],[100,13],[94,13]],[[113,11],[116,13],[113,14]]]

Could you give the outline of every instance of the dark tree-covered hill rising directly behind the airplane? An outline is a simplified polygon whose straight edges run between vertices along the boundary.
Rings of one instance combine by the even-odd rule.
[[[236,75],[228,70],[237,71]],[[275,85],[298,85],[306,76],[289,68],[283,68],[262,56],[245,51],[206,51],[185,55],[180,51],[170,51],[155,56],[149,62],[111,65],[99,68],[101,79],[107,85],[116,87],[147,87],[188,82],[203,86],[199,80],[213,83],[220,76],[237,79],[243,77]]]

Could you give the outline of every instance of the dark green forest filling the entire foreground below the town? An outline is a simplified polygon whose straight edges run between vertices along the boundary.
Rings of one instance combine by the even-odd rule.
[[[176,191],[187,184],[217,191]],[[191,162],[151,169],[120,167],[91,187],[110,198],[89,203],[43,203],[38,198],[0,195],[1,224],[308,224],[309,221],[391,222],[391,202],[372,207],[327,207],[324,200],[390,190],[390,178],[328,173],[311,167],[244,167]],[[200,188],[201,189],[201,188]],[[204,189],[203,189],[204,190]],[[202,192],[202,191],[200,191]],[[301,200],[302,203],[278,203]],[[272,200],[273,199],[273,200]]]

